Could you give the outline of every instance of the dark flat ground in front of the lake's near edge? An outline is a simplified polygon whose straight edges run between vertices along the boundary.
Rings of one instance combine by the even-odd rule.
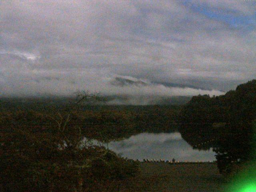
[[[120,191],[222,192],[226,183],[215,162],[140,162],[139,167],[140,175],[122,182]]]

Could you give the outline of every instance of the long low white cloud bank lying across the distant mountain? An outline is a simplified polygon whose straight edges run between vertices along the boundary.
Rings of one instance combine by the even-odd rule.
[[[47,73],[47,75],[46,75]],[[54,70],[44,72],[44,70],[35,70],[30,74],[24,74],[22,78],[17,78],[16,74],[2,74],[4,78],[0,81],[9,80],[9,86],[0,86],[0,96],[74,96],[77,90],[89,90],[90,92],[98,92],[102,96],[118,96],[110,100],[108,104],[154,104],[161,98],[173,96],[194,96],[198,94],[221,95],[224,92],[219,90],[203,90],[189,87],[169,87],[162,84],[154,84],[149,80],[142,80],[128,77],[118,76],[128,83],[120,86],[113,84],[117,75],[86,72],[74,73],[72,71],[56,74]],[[10,83],[11,82],[11,83]],[[6,82],[7,83],[7,82]]]

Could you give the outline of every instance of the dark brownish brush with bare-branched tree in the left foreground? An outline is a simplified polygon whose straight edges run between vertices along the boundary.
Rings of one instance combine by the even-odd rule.
[[[5,192],[118,191],[138,164],[84,140],[78,103],[56,114],[3,112],[0,118],[0,188]]]

